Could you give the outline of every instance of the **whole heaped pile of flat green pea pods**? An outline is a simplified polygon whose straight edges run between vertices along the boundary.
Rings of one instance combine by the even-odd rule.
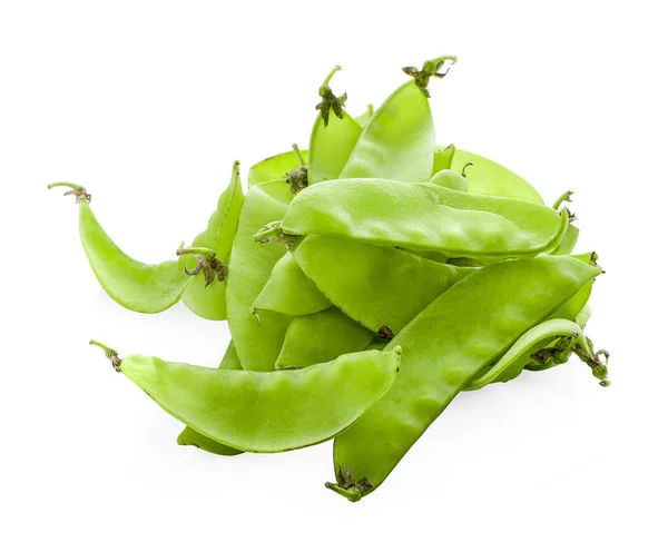
[[[501,165],[435,144],[429,88],[455,60],[403,68],[409,80],[358,117],[330,86],[335,67],[308,149],[252,166],[245,188],[235,162],[204,231],[158,265],[111,240],[84,187],[49,186],[76,199],[114,300],[228,321],[217,368],[90,342],[185,424],[179,444],[232,456],[333,440],[326,487],[354,502],[462,391],[573,354],[609,385],[608,353],[583,332],[602,270],[572,254],[571,193],[546,205]]]

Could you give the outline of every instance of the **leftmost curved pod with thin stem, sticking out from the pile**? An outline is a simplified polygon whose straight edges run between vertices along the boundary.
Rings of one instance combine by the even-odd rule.
[[[158,265],[139,263],[126,255],[107,235],[90,209],[86,188],[69,183],[49,188],[70,188],[79,204],[79,236],[102,289],[116,303],[137,313],[160,313],[177,303],[190,277],[178,260]]]

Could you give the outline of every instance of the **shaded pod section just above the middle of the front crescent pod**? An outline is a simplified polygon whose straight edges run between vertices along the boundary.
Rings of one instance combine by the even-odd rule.
[[[293,318],[285,334],[276,368],[311,366],[363,351],[375,334],[336,307]]]

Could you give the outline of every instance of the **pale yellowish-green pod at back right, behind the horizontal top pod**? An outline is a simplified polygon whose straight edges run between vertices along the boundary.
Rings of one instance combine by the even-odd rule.
[[[466,177],[471,194],[510,197],[543,205],[540,194],[527,180],[482,156],[456,149],[450,168]]]

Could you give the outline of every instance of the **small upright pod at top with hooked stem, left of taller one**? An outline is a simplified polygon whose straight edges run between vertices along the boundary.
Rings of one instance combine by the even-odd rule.
[[[323,101],[332,92],[330,79],[340,69],[336,66],[323,82]],[[360,124],[343,109],[341,115],[342,117],[327,117],[327,122],[320,114],[315,119],[308,144],[308,185],[338,178],[360,138]]]

